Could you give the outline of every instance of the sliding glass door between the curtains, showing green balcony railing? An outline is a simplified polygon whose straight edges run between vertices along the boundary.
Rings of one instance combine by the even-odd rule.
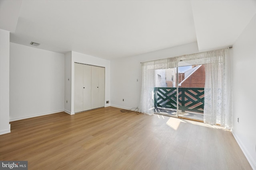
[[[155,113],[204,120],[204,65],[155,70],[155,81]]]

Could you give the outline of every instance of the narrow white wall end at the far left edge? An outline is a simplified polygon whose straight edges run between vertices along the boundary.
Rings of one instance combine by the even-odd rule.
[[[0,29],[0,135],[10,133],[9,125],[9,51],[10,32]]]

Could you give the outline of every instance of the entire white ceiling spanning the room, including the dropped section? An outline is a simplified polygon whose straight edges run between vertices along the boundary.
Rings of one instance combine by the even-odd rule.
[[[196,41],[200,51],[226,47],[255,14],[256,0],[0,0],[11,42],[103,59]]]

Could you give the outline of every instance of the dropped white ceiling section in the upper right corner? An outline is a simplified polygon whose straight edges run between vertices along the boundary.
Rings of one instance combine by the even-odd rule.
[[[233,45],[256,14],[256,0],[191,1],[200,51]]]

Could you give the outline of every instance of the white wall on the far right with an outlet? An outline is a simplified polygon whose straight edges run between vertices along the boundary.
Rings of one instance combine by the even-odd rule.
[[[232,133],[256,170],[256,15],[233,45]],[[237,118],[239,117],[239,123]]]

